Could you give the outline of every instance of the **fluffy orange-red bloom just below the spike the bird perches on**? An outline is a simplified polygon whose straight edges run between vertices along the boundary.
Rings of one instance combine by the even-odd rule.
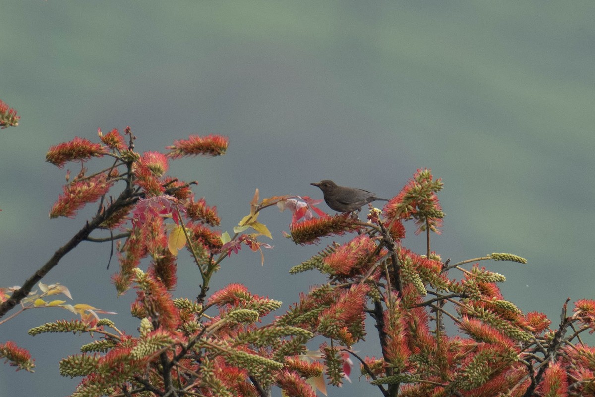
[[[353,276],[362,273],[362,267],[374,263],[371,254],[375,249],[376,245],[368,235],[357,236],[324,257],[324,264],[334,275]]]

